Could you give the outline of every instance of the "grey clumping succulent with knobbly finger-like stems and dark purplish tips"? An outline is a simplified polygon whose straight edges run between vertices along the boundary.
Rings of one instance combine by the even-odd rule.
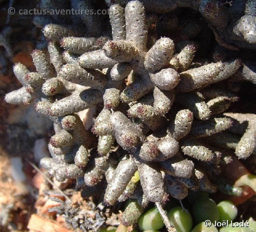
[[[41,1],[40,7],[65,7],[64,2],[57,3],[61,4]],[[192,35],[191,28],[201,27],[184,27],[188,39],[177,43],[168,37],[156,40],[156,30],[149,26],[158,20],[145,11],[199,9],[211,28],[221,33],[230,27],[226,12],[231,10],[212,0],[107,3],[112,40],[100,33],[103,22],[97,17],[73,17],[73,24],[65,17],[36,17],[34,22],[44,28],[48,40],[50,60],[43,51],[34,50],[37,72],[20,63],[14,66],[23,87],[7,94],[6,102],[35,102],[36,111],[60,127],[48,145],[52,158],[43,158],[41,165],[57,180],[76,179],[79,186],[94,186],[105,175],[107,205],[131,198],[122,216],[125,225],[138,220],[148,201],[159,206],[168,194],[178,200],[187,196],[188,189],[234,194],[235,189],[219,178],[219,148],[235,149],[242,159],[249,157],[256,149],[256,119],[255,114],[225,113],[239,98],[232,87],[222,85],[234,84],[236,75],[236,81],[256,83],[255,64],[243,63],[236,53],[226,60],[218,47],[214,62],[206,58],[193,62],[201,44],[188,39],[198,34]],[[251,4],[247,1],[246,20],[255,17]],[[71,6],[92,9],[90,1],[71,0]],[[166,17],[174,20],[173,15]],[[239,31],[246,41],[232,41],[253,48],[251,35],[240,24],[234,33]],[[90,131],[77,113],[91,107],[98,113]],[[121,155],[112,151],[113,145]],[[135,173],[139,182],[133,181]]]

